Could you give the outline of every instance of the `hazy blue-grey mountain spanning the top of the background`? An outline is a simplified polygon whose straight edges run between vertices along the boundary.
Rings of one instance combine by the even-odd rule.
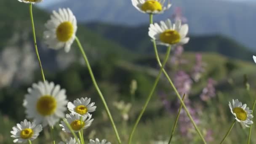
[[[168,0],[166,0],[168,1]],[[172,16],[175,7],[183,10],[191,34],[221,34],[256,50],[255,1],[171,0],[173,6],[155,21]],[[103,21],[112,24],[139,25],[148,23],[147,15],[137,11],[131,0],[65,0],[45,8],[49,11],[69,7],[79,21]]]

